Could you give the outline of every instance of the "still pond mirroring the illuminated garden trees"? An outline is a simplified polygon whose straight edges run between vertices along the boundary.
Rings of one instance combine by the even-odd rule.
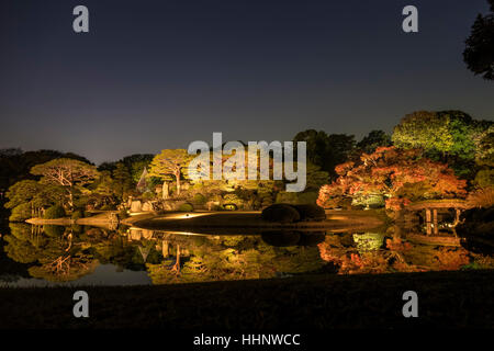
[[[31,226],[1,231],[0,286],[150,285],[299,274],[494,268],[451,233],[263,231],[212,235],[122,227]]]

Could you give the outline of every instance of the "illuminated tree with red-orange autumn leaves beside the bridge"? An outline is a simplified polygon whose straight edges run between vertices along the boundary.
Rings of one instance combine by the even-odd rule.
[[[450,199],[465,195],[464,180],[458,179],[447,165],[431,161],[420,150],[397,150],[381,147],[363,154],[359,163],[336,167],[339,178],[319,190],[317,204],[335,205],[335,201],[366,196],[382,196],[386,207],[400,210],[411,201]]]

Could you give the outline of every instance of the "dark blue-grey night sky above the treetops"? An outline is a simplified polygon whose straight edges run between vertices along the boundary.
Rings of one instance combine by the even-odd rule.
[[[193,140],[391,132],[406,113],[493,120],[462,61],[485,0],[0,0],[0,148],[93,162]],[[90,33],[72,31],[85,4]],[[402,31],[406,4],[419,33]]]

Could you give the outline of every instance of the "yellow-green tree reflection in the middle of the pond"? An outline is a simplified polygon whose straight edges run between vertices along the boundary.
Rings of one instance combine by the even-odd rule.
[[[273,247],[259,236],[165,236],[164,261],[147,264],[155,284],[268,279],[319,270],[317,247]]]

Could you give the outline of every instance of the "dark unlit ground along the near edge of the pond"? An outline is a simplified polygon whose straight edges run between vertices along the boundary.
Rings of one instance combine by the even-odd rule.
[[[90,317],[75,318],[86,290]],[[402,294],[418,294],[404,318]],[[0,288],[0,328],[494,328],[494,271],[313,275],[169,286]]]

